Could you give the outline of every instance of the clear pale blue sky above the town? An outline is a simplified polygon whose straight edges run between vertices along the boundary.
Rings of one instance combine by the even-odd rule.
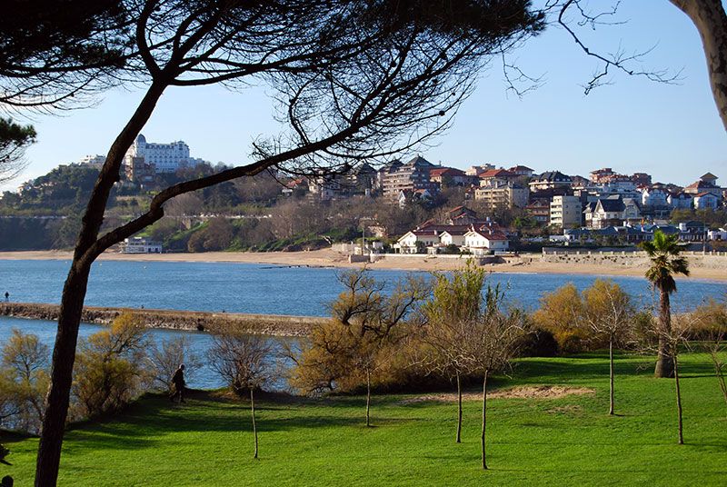
[[[727,133],[691,21],[668,0],[625,0],[618,18],[628,23],[586,33],[593,47],[612,52],[621,45],[631,52],[655,45],[644,67],[682,70],[679,84],[613,75],[611,85],[585,96],[581,85],[596,64],[552,27],[513,53],[523,71],[543,75],[545,84],[523,99],[507,94],[502,67],[494,61],[452,129],[423,156],[460,168],[525,164],[536,172],[583,175],[607,166],[677,184],[711,171],[727,184]],[[85,154],[105,154],[141,96],[140,88],[117,89],[94,108],[35,115],[30,122],[39,140],[27,152],[30,165],[5,189]],[[170,89],[143,131],[151,142],[181,139],[193,156],[225,164],[246,162],[254,138],[277,132],[264,88],[233,93],[219,86]]]

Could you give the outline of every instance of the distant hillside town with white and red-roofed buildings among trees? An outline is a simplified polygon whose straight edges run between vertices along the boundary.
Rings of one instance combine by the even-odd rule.
[[[55,224],[59,227],[64,226],[63,220],[77,220],[69,209],[82,201],[79,195],[90,190],[92,176],[104,163],[103,155],[87,155],[54,170],[73,173],[75,178],[54,177],[52,172],[22,184],[17,193],[5,192],[0,197],[1,224],[43,218],[50,228],[53,224],[48,222],[54,220],[61,221]],[[109,217],[123,221],[144,209],[144,194],[174,183],[177,176],[211,174],[220,165],[213,167],[191,157],[183,141],[151,143],[139,134],[124,157],[124,174],[116,185],[115,208]],[[478,164],[462,170],[432,164],[416,155],[382,166],[356,164],[341,174],[292,176],[281,171],[253,179],[252,185],[227,184],[190,196],[186,207],[168,212],[177,225],[167,225],[166,232],[157,225],[151,233],[129,239],[119,250],[304,250],[353,243],[362,231],[364,239],[369,234],[369,241],[364,240],[358,253],[483,255],[523,250],[538,242],[541,246],[633,245],[650,240],[656,229],[679,234],[688,243],[702,243],[704,248],[707,243],[712,248],[727,242],[727,188],[712,173],[682,187],[654,182],[651,174],[619,174],[610,167],[593,169],[587,177],[555,169],[536,173],[522,164],[507,168]],[[298,207],[290,207],[291,201],[298,202]],[[261,224],[268,219],[290,219],[291,213],[303,207],[321,209],[323,222],[319,218],[300,229],[292,223],[285,231],[279,222]],[[283,210],[286,215],[281,214]],[[226,220],[226,224],[211,224],[215,219]],[[245,219],[255,224],[239,222]],[[238,222],[231,223],[234,220]],[[72,244],[64,241],[62,228],[49,231],[61,235],[40,239],[35,247]],[[251,241],[243,232],[259,234],[259,238]],[[18,247],[35,248],[27,243]],[[13,250],[14,245],[0,239],[0,248]]]

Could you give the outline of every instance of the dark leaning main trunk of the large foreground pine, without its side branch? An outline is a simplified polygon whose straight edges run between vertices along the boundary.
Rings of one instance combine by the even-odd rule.
[[[154,112],[154,106],[163,92],[164,85],[152,84],[149,87],[134,115],[112,144],[106,156],[106,163],[98,175],[94,191],[86,205],[81,232],[78,242],[75,244],[74,259],[61,297],[58,331],[55,335],[51,362],[51,384],[45,399],[45,417],[35,463],[36,487],[54,487],[58,478],[65,419],[68,414],[68,401],[73,381],[78,326],[81,323],[88,274],[91,272],[91,264],[96,257],[96,255],[87,255],[86,252],[98,238],[101,224],[104,222],[108,196],[119,179],[124,154]]]

